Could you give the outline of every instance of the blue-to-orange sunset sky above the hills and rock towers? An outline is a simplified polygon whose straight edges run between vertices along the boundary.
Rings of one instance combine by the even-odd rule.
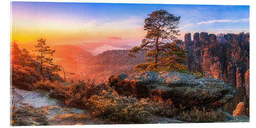
[[[180,39],[185,33],[249,32],[249,6],[12,2],[12,35],[20,42],[44,36],[55,44],[120,37],[138,45],[147,14],[160,9],[181,16]]]

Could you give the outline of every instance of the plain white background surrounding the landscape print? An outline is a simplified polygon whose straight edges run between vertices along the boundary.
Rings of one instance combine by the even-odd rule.
[[[16,0],[19,1],[19,0]],[[23,0],[26,1],[26,0]],[[0,127],[10,127],[10,0],[0,2]],[[29,2],[29,1],[28,1]],[[137,4],[189,4],[189,5],[249,5],[250,6],[250,122],[249,123],[188,123],[188,124],[129,124],[129,125],[76,125],[75,127],[255,127],[255,8],[253,0],[45,0],[30,2],[89,2]],[[255,1],[254,1],[255,2]],[[24,126],[20,126],[24,127]],[[33,126],[34,127],[34,126]],[[36,126],[38,127],[38,126]],[[40,126],[40,127],[74,127]]]

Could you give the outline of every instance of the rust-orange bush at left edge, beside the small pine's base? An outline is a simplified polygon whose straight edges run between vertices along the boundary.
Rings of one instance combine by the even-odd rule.
[[[40,79],[40,74],[31,67],[12,65],[12,86],[32,90],[32,84]]]

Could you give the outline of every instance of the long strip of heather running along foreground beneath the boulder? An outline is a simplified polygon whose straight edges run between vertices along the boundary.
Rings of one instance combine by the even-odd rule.
[[[159,115],[169,118],[176,118],[186,122],[216,122],[224,121],[223,114],[219,111],[200,110],[192,108],[184,111],[185,107],[180,105],[175,108],[173,102],[162,100],[160,97],[136,99],[134,97],[123,97],[103,90],[99,95],[91,98],[84,98],[83,102],[93,116],[105,117],[112,121],[121,123],[147,123],[150,115]]]

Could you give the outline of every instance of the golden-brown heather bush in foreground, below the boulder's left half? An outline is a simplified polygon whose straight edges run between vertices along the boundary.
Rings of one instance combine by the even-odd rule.
[[[92,114],[122,123],[147,123],[150,108],[145,100],[134,97],[119,97],[103,90],[99,95],[84,99]]]

